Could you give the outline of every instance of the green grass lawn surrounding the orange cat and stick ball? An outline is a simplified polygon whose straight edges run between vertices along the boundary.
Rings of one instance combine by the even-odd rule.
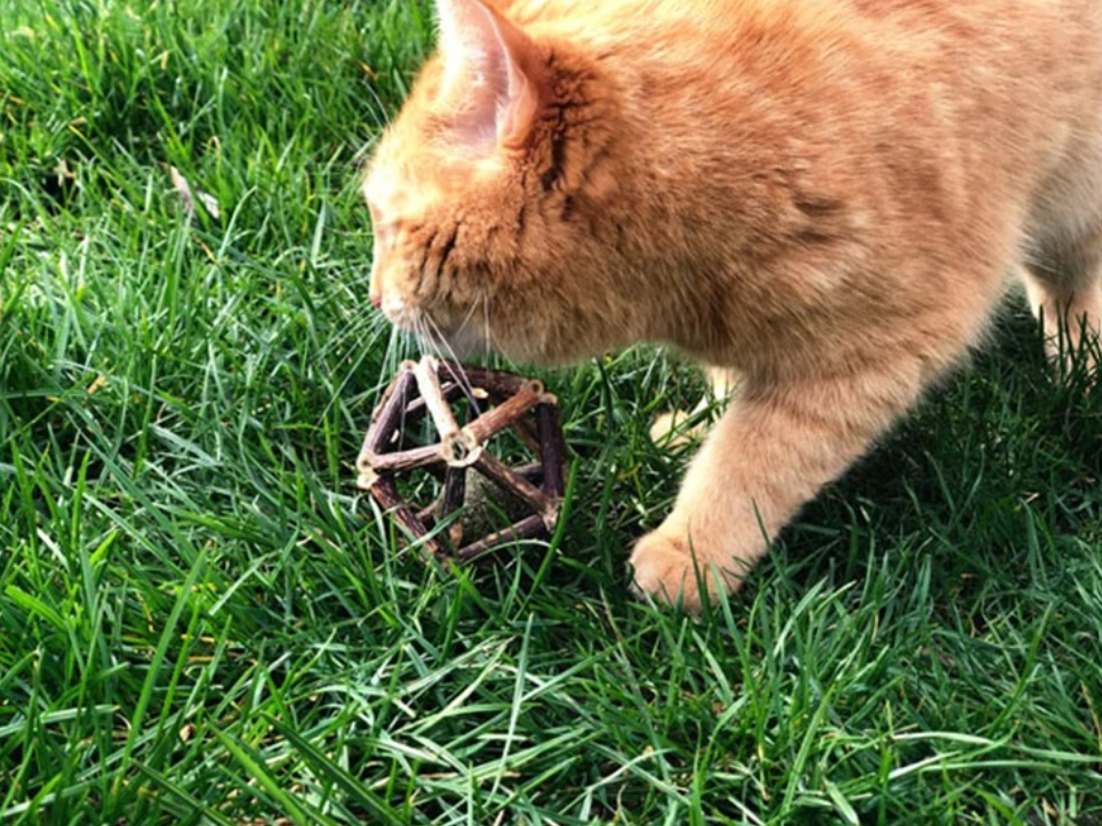
[[[449,572],[353,484],[425,8],[0,20],[4,826],[1102,823],[1102,407],[1020,309],[702,622],[626,597],[698,390],[647,351],[548,376],[559,540]]]

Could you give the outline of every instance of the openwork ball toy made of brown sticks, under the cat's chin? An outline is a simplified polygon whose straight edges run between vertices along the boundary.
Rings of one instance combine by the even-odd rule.
[[[419,442],[417,430],[430,437]],[[495,455],[504,450],[508,456]],[[564,458],[559,402],[541,382],[425,356],[400,367],[356,466],[358,486],[412,540],[433,555],[470,561],[550,535]],[[417,474],[437,482],[431,504],[402,494]]]

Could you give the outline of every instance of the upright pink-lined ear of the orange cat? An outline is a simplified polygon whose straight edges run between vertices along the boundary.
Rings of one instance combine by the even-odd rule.
[[[482,0],[436,0],[445,95],[460,100],[457,126],[480,147],[518,148],[540,108],[539,50]]]

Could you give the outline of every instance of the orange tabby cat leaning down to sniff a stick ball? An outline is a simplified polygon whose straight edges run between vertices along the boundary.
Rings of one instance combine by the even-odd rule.
[[[634,588],[700,606],[983,335],[1102,324],[1099,0],[437,0],[364,185],[372,299],[739,391]]]

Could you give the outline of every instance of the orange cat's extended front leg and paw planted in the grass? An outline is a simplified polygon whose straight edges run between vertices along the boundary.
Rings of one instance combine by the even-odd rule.
[[[673,511],[636,545],[633,590],[680,599],[692,612],[700,581],[712,594],[721,584],[737,590],[768,541],[939,372],[929,358],[882,354],[853,372],[742,389],[689,468]]]

